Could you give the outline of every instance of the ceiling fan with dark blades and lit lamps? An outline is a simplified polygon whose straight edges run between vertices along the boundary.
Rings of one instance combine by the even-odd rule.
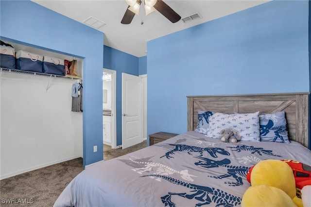
[[[130,24],[135,16],[139,13],[139,7],[142,3],[141,0],[126,0],[128,7],[121,20],[122,24]],[[175,23],[181,19],[181,17],[162,0],[143,0],[146,15],[154,11],[160,12],[164,17],[169,19],[172,23]]]

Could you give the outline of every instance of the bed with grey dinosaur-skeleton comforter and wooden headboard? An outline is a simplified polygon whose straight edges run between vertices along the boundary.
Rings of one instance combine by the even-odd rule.
[[[309,93],[188,96],[187,99],[186,133],[87,168],[69,183],[54,206],[241,206],[242,195],[250,187],[246,173],[260,160],[293,159],[311,165],[311,151],[307,148]],[[275,136],[278,142],[255,138],[224,143],[199,132],[198,125],[204,120],[203,116],[200,119],[202,111],[211,111],[213,115],[223,113],[223,116],[235,114],[235,118],[258,111],[269,115],[284,111],[287,128],[279,128],[283,131]],[[228,122],[228,118],[223,118],[210,119],[209,132],[212,124]],[[286,143],[284,131],[290,143]]]

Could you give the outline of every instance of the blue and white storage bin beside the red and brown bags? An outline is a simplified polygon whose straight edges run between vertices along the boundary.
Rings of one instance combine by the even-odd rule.
[[[65,60],[56,57],[43,57],[43,72],[54,74],[54,75],[64,75]]]

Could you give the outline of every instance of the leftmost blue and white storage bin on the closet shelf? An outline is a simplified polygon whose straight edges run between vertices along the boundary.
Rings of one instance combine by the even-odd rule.
[[[15,69],[15,49],[0,45],[0,68]]]

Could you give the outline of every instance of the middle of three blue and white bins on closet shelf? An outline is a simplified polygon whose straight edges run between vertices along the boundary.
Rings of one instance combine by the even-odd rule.
[[[42,73],[42,61],[43,55],[25,51],[16,52],[16,69]]]

